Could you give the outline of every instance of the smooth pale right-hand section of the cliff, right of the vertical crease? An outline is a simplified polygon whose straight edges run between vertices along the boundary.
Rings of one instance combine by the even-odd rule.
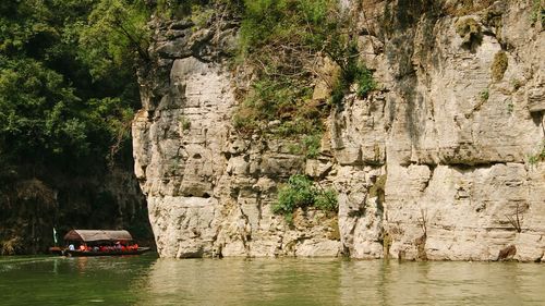
[[[513,245],[512,258],[540,261],[545,167],[529,156],[544,140],[545,36],[531,1],[373,2],[361,40],[389,90],[389,255],[496,260]],[[460,33],[468,21],[474,38]]]

